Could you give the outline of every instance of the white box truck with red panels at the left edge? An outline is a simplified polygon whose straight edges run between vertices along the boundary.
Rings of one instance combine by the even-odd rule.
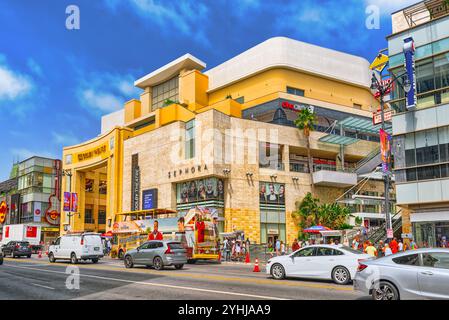
[[[2,245],[10,241],[26,241],[30,243],[32,252],[41,249],[41,226],[33,224],[10,224],[3,226]]]

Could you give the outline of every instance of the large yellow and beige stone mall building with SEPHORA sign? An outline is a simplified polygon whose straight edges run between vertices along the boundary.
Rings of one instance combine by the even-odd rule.
[[[186,54],[136,80],[139,99],[104,116],[98,137],[64,148],[63,191],[79,203],[61,230],[109,231],[120,212],[201,205],[218,211],[222,232],[291,243],[312,176],[315,195],[334,202],[379,148],[363,58],[277,37],[204,69]],[[304,108],[317,118],[312,175],[294,125]]]

